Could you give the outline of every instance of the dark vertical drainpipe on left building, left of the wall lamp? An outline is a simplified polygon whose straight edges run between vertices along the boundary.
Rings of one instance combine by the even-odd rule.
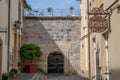
[[[9,55],[10,55],[10,12],[11,12],[11,0],[8,1],[8,44],[7,44],[7,71],[9,72]]]

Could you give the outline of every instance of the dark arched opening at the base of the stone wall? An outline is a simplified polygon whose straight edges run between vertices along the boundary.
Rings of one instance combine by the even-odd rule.
[[[64,73],[64,56],[60,52],[48,56],[48,73]]]

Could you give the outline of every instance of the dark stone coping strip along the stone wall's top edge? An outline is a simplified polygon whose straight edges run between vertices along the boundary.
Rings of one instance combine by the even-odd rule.
[[[48,17],[36,17],[36,16],[24,16],[24,20],[29,19],[29,20],[81,20],[81,17],[77,17],[77,16],[48,16]]]

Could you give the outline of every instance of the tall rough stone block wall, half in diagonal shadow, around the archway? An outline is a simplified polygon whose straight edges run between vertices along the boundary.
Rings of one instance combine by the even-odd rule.
[[[80,17],[25,17],[23,43],[39,45],[43,56],[34,61],[48,71],[48,55],[59,51],[64,56],[64,73],[80,71]]]

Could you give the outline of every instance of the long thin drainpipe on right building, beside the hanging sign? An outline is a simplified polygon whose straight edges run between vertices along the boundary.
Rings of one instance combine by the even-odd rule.
[[[89,0],[87,0],[87,14],[88,14],[88,22],[89,22]],[[89,60],[89,80],[91,80],[91,58],[90,58],[90,31],[89,31],[89,23],[88,23],[88,60]]]

